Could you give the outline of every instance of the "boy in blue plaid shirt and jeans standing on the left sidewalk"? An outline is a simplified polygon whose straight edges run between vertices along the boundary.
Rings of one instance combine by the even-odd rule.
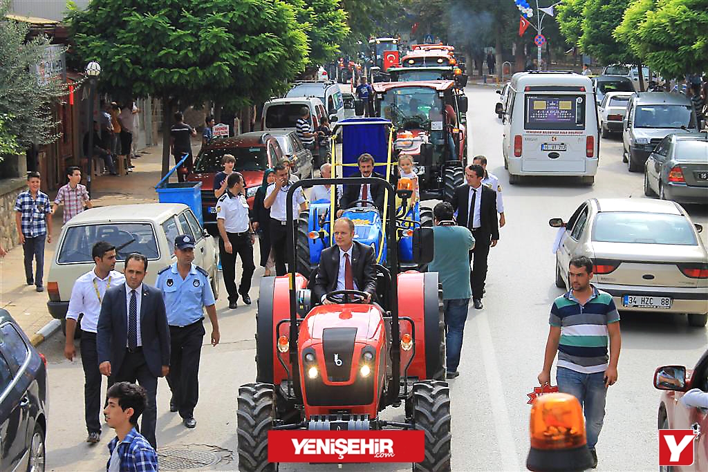
[[[52,242],[52,208],[49,197],[40,191],[40,173],[27,174],[27,186],[15,202],[15,223],[20,234],[20,244],[25,251],[25,276],[27,284],[37,284],[37,292],[44,292],[44,246],[45,239]],[[32,277],[32,258],[37,262],[35,277]]]

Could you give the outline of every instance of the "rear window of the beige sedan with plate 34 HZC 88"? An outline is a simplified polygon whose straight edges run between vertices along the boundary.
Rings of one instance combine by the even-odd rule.
[[[641,212],[600,213],[593,224],[593,241],[697,246],[692,226],[681,215]]]

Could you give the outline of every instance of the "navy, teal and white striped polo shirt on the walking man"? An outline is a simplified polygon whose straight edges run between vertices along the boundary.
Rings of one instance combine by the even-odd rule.
[[[612,295],[595,286],[593,294],[581,305],[573,291],[556,298],[549,323],[561,328],[558,343],[558,367],[582,374],[607,370],[607,325],[619,321]]]

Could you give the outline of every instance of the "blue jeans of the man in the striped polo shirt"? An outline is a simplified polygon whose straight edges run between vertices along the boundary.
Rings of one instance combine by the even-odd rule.
[[[556,382],[559,391],[570,393],[578,398],[585,413],[588,448],[595,449],[605,419],[605,396],[607,395],[605,372],[582,374],[565,367],[559,367],[556,372]]]

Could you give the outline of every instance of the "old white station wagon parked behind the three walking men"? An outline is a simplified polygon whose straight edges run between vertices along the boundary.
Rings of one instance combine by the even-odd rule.
[[[192,210],[181,203],[112,205],[87,209],[62,228],[54,260],[47,277],[47,308],[62,321],[69,308],[69,298],[76,279],[94,267],[91,248],[98,241],[108,241],[116,248],[122,272],[130,253],[141,253],[148,260],[144,283],[152,285],[157,272],[177,260],[174,241],[180,234],[194,236],[194,263],[209,274],[215,297],[219,296],[218,251],[214,238],[199,224]]]

